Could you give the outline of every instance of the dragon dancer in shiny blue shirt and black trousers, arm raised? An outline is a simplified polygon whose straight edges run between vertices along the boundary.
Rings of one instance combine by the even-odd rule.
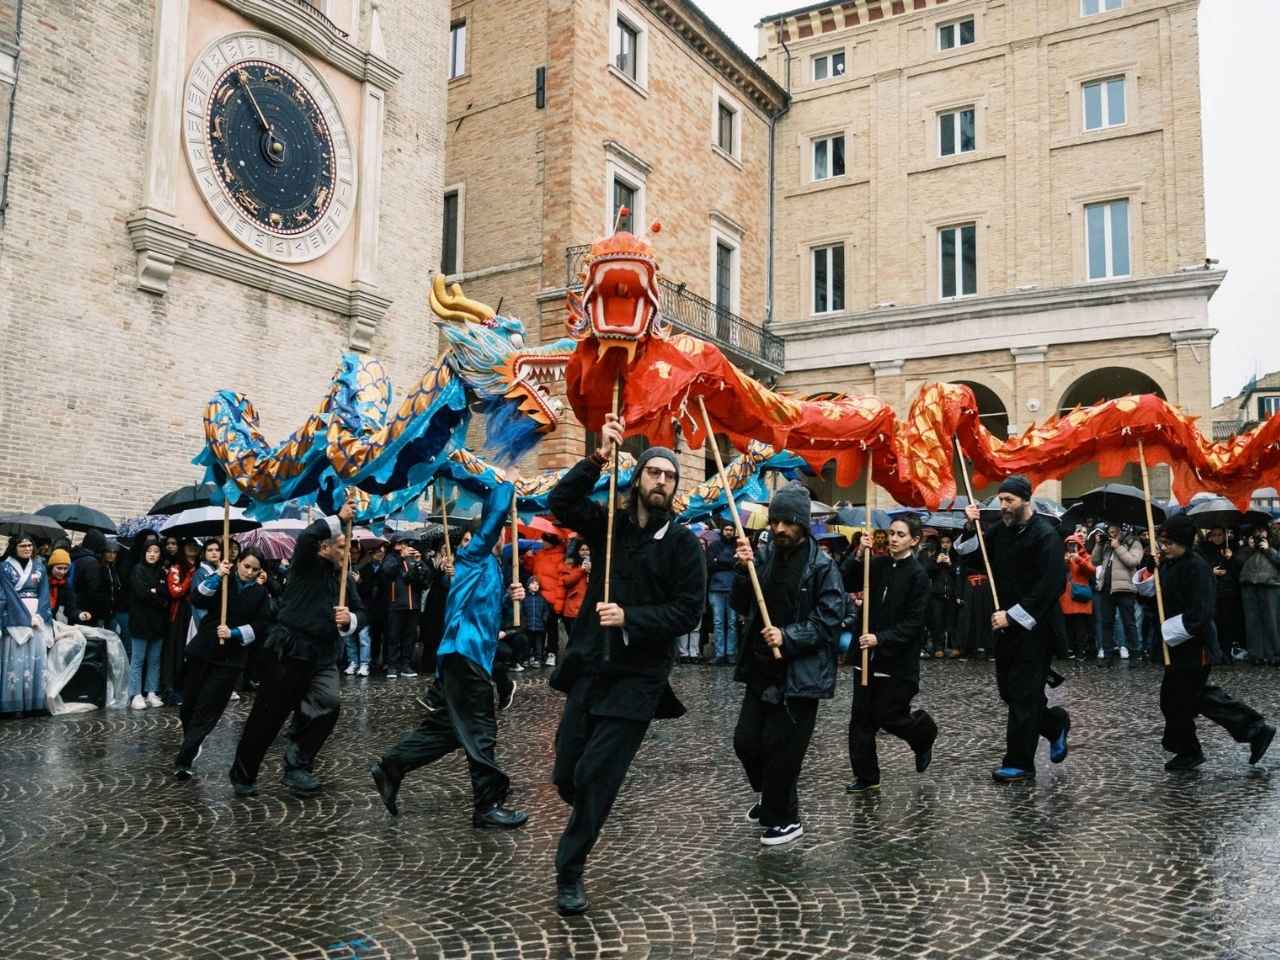
[[[508,479],[516,479],[515,471],[508,471]],[[525,599],[518,582],[504,582],[495,556],[515,495],[512,483],[489,492],[480,529],[454,554],[453,570],[445,571],[452,581],[436,652],[438,682],[426,691],[426,716],[369,768],[393,817],[399,814],[397,797],[404,774],[462,749],[471,771],[471,824],[512,829],[529,820],[524,810],[503,805],[511,780],[494,755],[498,719],[493,676],[503,603]]]

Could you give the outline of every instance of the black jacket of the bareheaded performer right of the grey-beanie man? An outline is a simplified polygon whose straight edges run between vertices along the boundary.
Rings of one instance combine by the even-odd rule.
[[[852,571],[861,586],[863,562],[854,561]],[[865,603],[865,598],[863,599]],[[920,685],[920,644],[929,605],[929,576],[915,557],[895,561],[872,557],[870,632],[876,646],[870,649],[872,675],[887,673],[914,687]],[[861,620],[854,636],[861,634]],[[852,650],[858,669],[861,654]]]

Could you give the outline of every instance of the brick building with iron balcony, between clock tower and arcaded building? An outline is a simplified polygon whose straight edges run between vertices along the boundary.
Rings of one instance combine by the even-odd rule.
[[[562,337],[585,244],[627,206],[637,233],[662,223],[677,323],[781,374],[760,305],[782,88],[686,0],[456,0],[451,35],[442,268],[467,296]],[[570,421],[540,465],[584,447]],[[686,466],[701,480],[700,452]]]

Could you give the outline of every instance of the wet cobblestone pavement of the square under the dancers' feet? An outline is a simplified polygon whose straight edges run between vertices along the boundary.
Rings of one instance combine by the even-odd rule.
[[[1280,957],[1280,748],[1263,768],[1201,722],[1210,759],[1169,774],[1158,671],[1068,666],[1070,759],[995,786],[1004,713],[986,662],[928,663],[938,719],[918,776],[881,739],[879,796],[845,795],[850,686],[822,707],[800,785],[805,837],[764,849],[731,739],[730,671],[678,667],[690,707],[653,727],[588,864],[589,915],[553,909],[566,809],[547,782],[561,700],[526,673],[499,756],[516,833],[470,826],[461,756],[411,776],[399,819],[366,772],[415,722],[416,686],[344,680],[317,765],[232,796],[233,704],[201,776],[172,777],[177,710],[0,721],[0,956],[37,957]],[[1215,680],[1272,719],[1280,671]],[[415,681],[416,682],[416,681]]]

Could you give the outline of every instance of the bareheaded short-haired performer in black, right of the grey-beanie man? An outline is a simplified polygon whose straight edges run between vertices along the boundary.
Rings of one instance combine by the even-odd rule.
[[[920,518],[905,516],[888,529],[888,556],[872,557],[870,626],[858,639],[859,650],[869,650],[870,680],[861,682],[861,655],[854,657],[854,707],[849,717],[849,763],[854,768],[850,794],[879,790],[876,733],[883,730],[908,742],[915,754],[915,769],[924,773],[933,759],[938,724],[924,710],[911,709],[920,690],[920,645],[929,607],[929,575],[915,558],[920,543]],[[861,582],[863,559],[852,573]]]

